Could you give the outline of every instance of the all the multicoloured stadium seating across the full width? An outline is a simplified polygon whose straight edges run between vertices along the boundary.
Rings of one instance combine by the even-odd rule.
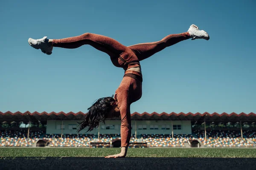
[[[210,130],[207,131],[207,140],[204,139],[204,130],[193,130],[194,137],[197,137],[205,147],[253,147],[256,143],[256,131],[244,130],[244,138],[241,139],[239,131]],[[164,134],[142,134],[135,138],[131,136],[130,143],[147,143],[148,147],[185,147],[188,140],[195,139],[192,135],[164,135]],[[3,130],[0,132],[0,146],[8,147],[31,147],[39,138],[49,140],[50,147],[91,147],[91,142],[104,143],[112,142],[113,139],[120,139],[120,134],[44,134],[43,131],[30,131],[27,138],[27,130]],[[249,140],[254,142],[251,143]],[[106,145],[107,146],[107,145]],[[133,146],[134,147],[134,146]]]

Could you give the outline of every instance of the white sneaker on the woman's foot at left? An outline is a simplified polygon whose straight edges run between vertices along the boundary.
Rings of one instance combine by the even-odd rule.
[[[28,42],[29,45],[35,49],[41,49],[41,51],[45,54],[52,54],[52,46],[49,46],[47,44],[47,42],[45,41],[47,39],[47,37],[41,38],[41,39],[37,39],[34,40],[32,38],[29,38]]]

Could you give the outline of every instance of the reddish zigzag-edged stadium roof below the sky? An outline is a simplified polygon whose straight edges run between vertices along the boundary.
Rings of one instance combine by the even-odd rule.
[[[30,113],[26,111],[24,113],[15,112],[12,113],[7,111],[5,113],[0,112],[0,121],[12,122],[12,121],[47,121],[47,120],[79,120],[82,119],[82,116],[86,114],[83,112],[78,113],[64,113],[64,112],[33,112]],[[118,118],[117,118],[118,119]],[[120,119],[120,118],[119,118]],[[203,122],[204,120],[209,122],[235,122],[235,121],[243,121],[243,122],[254,122],[256,121],[255,113],[137,113],[134,112],[131,114],[132,120],[191,120]]]

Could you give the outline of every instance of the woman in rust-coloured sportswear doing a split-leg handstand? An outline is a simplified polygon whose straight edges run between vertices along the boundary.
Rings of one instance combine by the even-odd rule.
[[[99,126],[99,122],[105,122],[106,118],[121,116],[121,153],[106,156],[106,158],[125,157],[131,138],[131,113],[130,105],[139,100],[142,96],[142,74],[140,61],[153,54],[163,50],[166,47],[177,42],[195,39],[209,40],[209,35],[195,25],[191,25],[187,32],[181,34],[171,34],[162,40],[150,43],[141,43],[131,46],[125,46],[113,40],[98,34],[85,33],[77,37],[64,39],[47,39],[47,37],[34,40],[29,38],[28,42],[33,48],[41,49],[45,54],[52,54],[53,47],[78,48],[81,45],[91,45],[94,48],[107,53],[116,67],[125,70],[125,75],[121,84],[117,88],[114,97],[104,97],[98,99],[85,115],[80,123],[80,129],[88,127],[87,131],[93,130]]]

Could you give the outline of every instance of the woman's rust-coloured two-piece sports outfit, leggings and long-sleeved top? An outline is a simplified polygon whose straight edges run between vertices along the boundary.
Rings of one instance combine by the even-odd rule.
[[[53,40],[52,45],[54,47],[62,48],[78,48],[81,45],[89,44],[94,48],[107,53],[111,57],[113,64],[116,63],[115,66],[121,67],[121,62],[115,62],[116,57],[121,54],[128,54],[124,55],[125,57],[128,56],[126,58],[124,57],[124,60],[141,61],[168,46],[174,45],[177,42],[187,40],[189,38],[190,35],[188,32],[182,34],[171,34],[157,42],[143,43],[126,47],[112,38],[98,34],[85,33],[77,37]],[[137,79],[136,76],[132,78],[129,77],[128,74],[137,75]],[[129,141],[131,138],[130,105],[132,102],[139,100],[141,95],[142,74],[138,72],[136,73],[136,71],[126,71],[125,76],[115,93],[115,99],[118,103],[121,115],[121,147],[129,146]]]

